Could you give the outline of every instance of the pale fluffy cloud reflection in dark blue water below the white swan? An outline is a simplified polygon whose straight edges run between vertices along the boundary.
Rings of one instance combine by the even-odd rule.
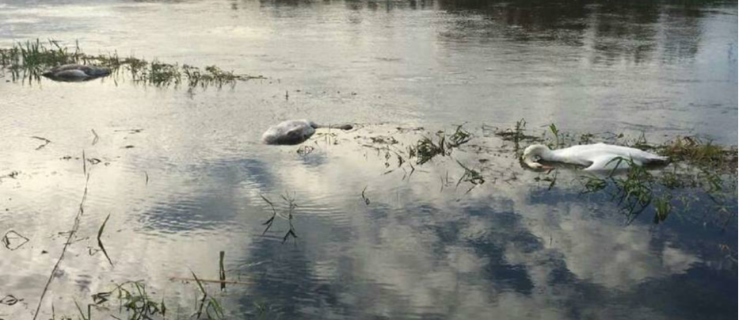
[[[650,278],[685,272],[698,258],[681,249],[655,247],[649,228],[624,226],[620,220],[595,218],[586,208],[570,203],[556,210],[542,207],[533,216],[546,223],[531,224],[529,230],[546,250],[562,255],[567,268],[578,279],[608,288],[628,288]],[[536,211],[534,211],[536,212]],[[532,264],[536,254],[509,246],[506,258],[513,263]]]

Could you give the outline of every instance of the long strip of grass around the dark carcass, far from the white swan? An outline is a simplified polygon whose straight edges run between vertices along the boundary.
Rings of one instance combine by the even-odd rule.
[[[36,41],[17,43],[11,48],[0,48],[0,67],[9,72],[13,81],[40,81],[41,74],[64,64],[84,64],[110,68],[115,77],[127,77],[135,83],[154,86],[222,87],[234,86],[239,81],[264,79],[262,76],[236,74],[217,66],[200,69],[161,61],[146,61],[136,57],[120,57],[112,54],[86,54],[79,43],[74,48],[61,46],[57,41],[48,44]]]

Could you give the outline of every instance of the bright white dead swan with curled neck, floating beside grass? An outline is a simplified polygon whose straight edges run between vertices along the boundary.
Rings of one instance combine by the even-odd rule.
[[[619,161],[623,159],[625,161]],[[596,143],[549,150],[545,145],[531,145],[523,152],[523,162],[535,169],[544,168],[538,161],[563,162],[586,166],[584,170],[600,171],[627,168],[635,165],[667,164],[668,157],[658,156],[635,148]]]

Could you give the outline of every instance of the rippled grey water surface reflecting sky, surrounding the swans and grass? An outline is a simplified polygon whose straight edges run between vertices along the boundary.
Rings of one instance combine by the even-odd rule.
[[[525,118],[536,134],[555,123],[736,144],[739,4],[0,1],[0,21],[3,47],[78,40],[87,53],[267,78],[193,90],[1,78],[0,232],[29,241],[10,250],[23,242],[11,234],[0,247],[0,297],[22,299],[0,304],[0,318],[33,318],[86,186],[39,318],[52,305],[76,315],[75,301],[129,280],[186,318],[198,289],[176,278],[218,279],[220,251],[227,278],[244,284],[208,290],[233,318],[258,313],[255,303],[282,319],[737,312],[726,248],[739,239],[725,223],[735,207],[716,213],[698,194],[679,217],[627,223],[609,196],[582,193],[580,172],[523,170],[483,125]],[[259,143],[296,118],[359,125],[320,131],[307,154]],[[392,136],[400,152],[462,123],[473,140],[415,171],[371,139]],[[457,161],[485,183],[458,184]],[[281,217],[297,205],[297,239],[283,244],[281,217],[263,235],[262,196]],[[108,215],[113,266],[96,239]]]

